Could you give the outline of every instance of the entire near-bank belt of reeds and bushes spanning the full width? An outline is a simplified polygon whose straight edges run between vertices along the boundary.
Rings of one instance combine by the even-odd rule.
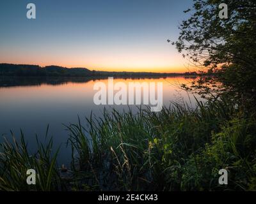
[[[256,117],[228,100],[170,106],[159,113],[104,111],[86,126],[67,126],[70,177],[56,164],[52,140],[29,155],[21,141],[3,142],[1,190],[223,191],[256,190]],[[26,184],[35,168],[36,185]],[[228,171],[220,186],[218,171]]]

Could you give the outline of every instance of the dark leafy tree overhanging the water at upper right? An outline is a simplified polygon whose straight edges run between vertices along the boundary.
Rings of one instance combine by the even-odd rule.
[[[256,2],[228,0],[228,18],[220,19],[221,0],[195,0],[173,43],[202,76],[191,89],[210,98],[228,95],[250,108],[256,101]],[[207,76],[207,77],[205,77]],[[214,76],[214,80],[211,76]],[[187,87],[188,88],[188,87]],[[189,89],[189,88],[188,88]],[[216,95],[215,95],[216,96]]]

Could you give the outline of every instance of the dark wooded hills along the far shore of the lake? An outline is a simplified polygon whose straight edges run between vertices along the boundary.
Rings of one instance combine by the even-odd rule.
[[[45,66],[28,64],[0,64],[0,76],[13,77],[168,77],[196,76],[196,72],[186,73],[152,73],[127,71],[91,71],[86,68],[65,68],[61,66]]]

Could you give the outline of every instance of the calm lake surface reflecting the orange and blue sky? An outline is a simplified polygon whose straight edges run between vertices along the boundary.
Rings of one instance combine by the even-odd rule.
[[[188,94],[180,91],[177,84],[188,83],[186,78],[159,78],[159,79],[116,79],[116,82],[163,82],[163,104],[170,105],[170,101],[184,101],[190,105]],[[96,106],[93,103],[93,85],[95,82],[108,80],[93,80],[83,83],[68,82],[60,85],[35,85],[0,88],[0,134],[10,137],[10,129],[16,136],[20,135],[20,128],[24,131],[29,148],[33,149],[35,134],[44,141],[47,124],[49,124],[49,136],[54,136],[55,147],[61,144],[60,163],[68,164],[70,150],[65,149],[68,132],[63,124],[77,122],[77,115],[83,120],[90,117],[93,112],[100,116],[104,106]],[[195,99],[190,97],[191,104],[195,105]],[[127,110],[125,105],[106,106],[117,110]],[[130,106],[136,111],[136,106]],[[84,122],[85,120],[83,120]],[[2,138],[0,139],[2,140]]]

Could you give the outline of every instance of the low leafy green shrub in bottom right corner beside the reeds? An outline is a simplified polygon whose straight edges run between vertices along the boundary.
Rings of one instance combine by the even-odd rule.
[[[255,119],[237,116],[223,125],[220,133],[212,133],[211,142],[185,164],[182,189],[246,190],[249,187],[252,190],[249,182],[256,173],[253,169],[256,140],[251,133],[255,128]],[[226,187],[218,185],[218,170],[223,167],[228,170]]]

